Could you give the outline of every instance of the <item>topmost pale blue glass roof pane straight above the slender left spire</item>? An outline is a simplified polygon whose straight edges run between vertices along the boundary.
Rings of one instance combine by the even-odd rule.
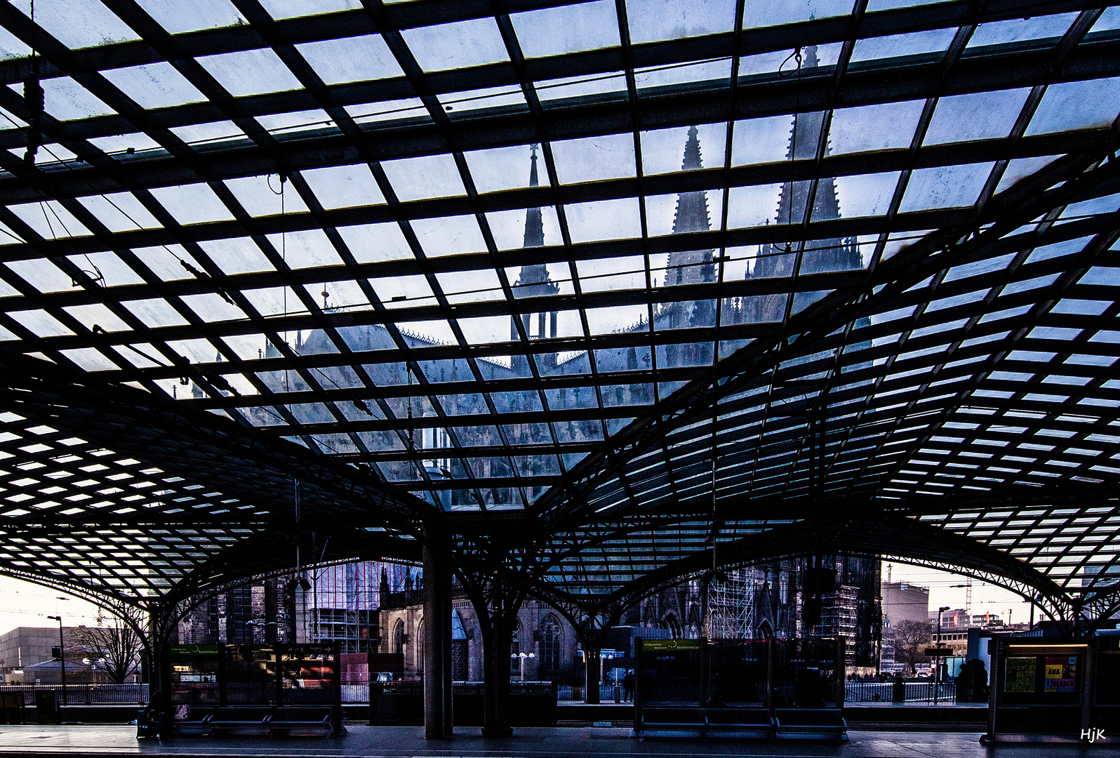
[[[610,0],[511,13],[526,58],[618,47],[618,16]]]

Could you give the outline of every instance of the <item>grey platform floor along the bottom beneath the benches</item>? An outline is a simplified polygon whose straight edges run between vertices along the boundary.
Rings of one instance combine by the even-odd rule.
[[[1052,758],[1053,756],[1118,756],[1120,739],[1093,746],[1000,745],[986,747],[978,732],[849,731],[851,741],[808,740],[767,743],[718,739],[635,740],[627,729],[549,728],[517,729],[512,738],[485,739],[477,729],[463,729],[448,740],[426,741],[423,730],[409,727],[348,727],[345,737],[176,737],[171,740],[136,738],[129,726],[0,727],[0,754],[65,754],[83,756],[362,756],[366,758],[599,758],[651,756],[706,758],[708,756],[777,756],[781,758]]]

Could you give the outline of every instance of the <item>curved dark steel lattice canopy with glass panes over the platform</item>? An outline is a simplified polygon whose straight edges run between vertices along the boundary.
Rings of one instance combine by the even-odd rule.
[[[0,565],[272,570],[301,480],[328,558],[514,512],[571,597],[1108,595],[1120,11],[811,6],[0,4]]]

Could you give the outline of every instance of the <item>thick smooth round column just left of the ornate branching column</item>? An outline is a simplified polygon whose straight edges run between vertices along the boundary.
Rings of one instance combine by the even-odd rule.
[[[423,736],[442,739],[444,713],[444,636],[450,619],[444,611],[450,605],[445,597],[441,574],[447,562],[442,543],[424,530],[423,541]]]

